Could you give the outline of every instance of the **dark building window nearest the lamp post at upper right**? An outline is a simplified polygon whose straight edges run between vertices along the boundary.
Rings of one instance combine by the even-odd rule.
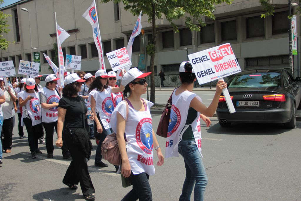
[[[293,13],[293,12],[292,12]],[[287,33],[289,29],[288,12],[274,13],[272,16],[273,34]]]

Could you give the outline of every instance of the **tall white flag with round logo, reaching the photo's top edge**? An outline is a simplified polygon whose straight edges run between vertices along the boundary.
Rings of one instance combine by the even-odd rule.
[[[97,16],[97,9],[95,0],[93,0],[91,6],[85,11],[84,14],[82,14],[82,17],[84,17],[88,22],[90,22],[92,26],[92,32],[93,32],[93,38],[95,45],[98,50],[98,57],[99,57],[99,63],[100,63],[100,69],[105,70],[106,67],[104,65],[104,55],[102,52],[102,44],[101,44],[101,36],[100,36],[100,30],[98,25],[98,16]]]

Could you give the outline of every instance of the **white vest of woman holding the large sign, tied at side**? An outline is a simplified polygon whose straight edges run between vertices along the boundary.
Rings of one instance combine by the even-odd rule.
[[[182,135],[189,125],[185,125],[187,120],[188,109],[191,100],[198,97],[196,94],[184,91],[178,96],[175,95],[176,90],[172,94],[172,108],[170,111],[170,119],[165,144],[165,158],[172,156],[178,157],[178,144],[182,140]],[[202,101],[200,99],[200,101]],[[197,112],[197,118],[191,124],[194,140],[201,154],[201,131],[200,131],[200,112]]]

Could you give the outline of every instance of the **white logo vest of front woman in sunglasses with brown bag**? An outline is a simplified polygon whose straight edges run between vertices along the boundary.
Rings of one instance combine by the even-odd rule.
[[[133,174],[142,172],[148,175],[155,174],[153,126],[150,107],[154,104],[145,100],[147,110],[136,111],[129,106],[129,114],[126,121],[127,155]],[[115,108],[112,119],[117,120],[117,112],[126,118],[126,103],[120,102]],[[117,121],[111,121],[113,131],[117,132]]]

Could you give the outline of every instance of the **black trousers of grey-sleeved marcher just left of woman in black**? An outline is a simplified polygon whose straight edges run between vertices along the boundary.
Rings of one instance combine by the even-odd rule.
[[[54,133],[54,128],[55,128],[55,131],[57,132],[57,121],[50,122],[50,123],[42,122],[42,124],[45,128],[45,136],[46,136],[45,140],[46,140],[47,154],[53,154],[53,150],[54,150],[53,133]],[[63,143],[62,154],[63,154],[63,156],[70,154],[66,143]]]

